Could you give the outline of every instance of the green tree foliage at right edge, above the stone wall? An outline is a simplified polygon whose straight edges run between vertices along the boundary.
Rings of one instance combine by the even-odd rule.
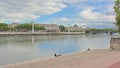
[[[120,32],[120,0],[115,1],[114,10],[116,13],[116,26]]]

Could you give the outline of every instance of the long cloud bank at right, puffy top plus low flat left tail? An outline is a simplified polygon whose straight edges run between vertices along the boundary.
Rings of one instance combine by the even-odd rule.
[[[88,24],[88,26],[106,26],[106,27],[114,27],[114,22],[115,22],[115,15],[108,15],[104,13],[100,13],[97,11],[94,11],[95,8],[93,7],[88,7],[82,11],[78,12],[78,16],[75,18],[53,18],[47,23],[54,23],[54,24],[63,24],[63,25],[68,25],[68,24]]]

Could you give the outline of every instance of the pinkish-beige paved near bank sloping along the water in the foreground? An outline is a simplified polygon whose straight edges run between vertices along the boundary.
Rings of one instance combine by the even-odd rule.
[[[46,60],[16,63],[2,68],[110,68],[120,61],[120,51],[95,49]]]

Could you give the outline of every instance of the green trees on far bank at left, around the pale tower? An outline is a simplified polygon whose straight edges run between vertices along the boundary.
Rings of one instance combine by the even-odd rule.
[[[0,31],[28,31],[28,30],[32,30],[32,24],[28,24],[28,23],[18,24],[17,26],[12,28],[12,27],[8,27],[8,25],[5,23],[0,23]],[[45,27],[38,26],[35,24],[34,30],[45,30]]]

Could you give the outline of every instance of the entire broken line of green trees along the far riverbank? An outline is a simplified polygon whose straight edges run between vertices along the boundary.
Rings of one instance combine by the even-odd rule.
[[[60,31],[62,32],[67,32],[68,30],[66,30],[65,26],[60,25],[59,26]],[[8,27],[7,24],[5,23],[0,23],[0,31],[31,31],[32,30],[32,24],[29,23],[25,23],[25,24],[18,24],[17,26],[15,26],[14,28],[10,28]],[[37,24],[34,25],[34,30],[46,30],[44,26],[39,26]],[[91,29],[87,29],[86,32],[92,32],[92,31],[96,31],[96,32],[118,32],[117,30],[111,30],[111,29],[96,29],[96,28],[91,28]],[[71,32],[82,32],[81,31],[71,31]]]

